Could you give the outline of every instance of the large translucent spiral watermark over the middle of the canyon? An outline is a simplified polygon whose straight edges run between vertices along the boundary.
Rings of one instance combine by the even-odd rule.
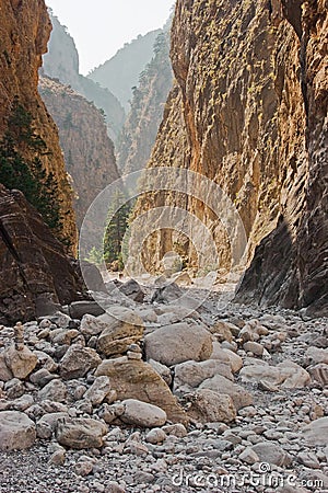
[[[116,202],[119,194],[124,197],[124,202]],[[174,303],[188,306],[190,311],[197,309],[210,294],[220,268],[220,252],[213,237],[213,228],[218,225],[224,231],[225,251],[230,252],[226,283],[235,282],[236,272],[243,273],[247,238],[233,202],[218,184],[202,174],[176,168],[152,168],[130,173],[103,190],[85,215],[80,232],[80,259],[87,257],[91,249],[104,252],[106,227],[125,204],[140,196],[140,203],[145,197],[145,207],[138,207],[142,209],[142,214],[136,215],[131,220],[122,241],[121,254],[128,277],[137,278],[140,283],[140,279],[149,275],[143,259],[148,256],[148,263],[150,263],[154,255],[153,252],[145,251],[147,240],[152,234],[167,230],[181,234],[192,244],[194,252],[197,254],[196,276],[201,277],[201,273],[203,275],[203,284],[200,284],[203,296],[196,298],[189,291],[183,294],[179,299],[175,299]],[[153,207],[149,204],[153,204]],[[208,215],[210,214],[210,219],[199,219],[196,214],[199,204],[208,211]],[[165,253],[167,252],[164,252],[164,257]],[[178,252],[176,255],[178,259]],[[104,260],[101,260],[99,264],[101,270],[106,272]],[[92,271],[83,263],[82,275],[89,289],[93,290]],[[174,278],[167,279],[167,284],[171,282],[173,283]],[[125,297],[122,293],[121,297]],[[94,298],[106,309],[106,300],[103,296],[95,294]]]

